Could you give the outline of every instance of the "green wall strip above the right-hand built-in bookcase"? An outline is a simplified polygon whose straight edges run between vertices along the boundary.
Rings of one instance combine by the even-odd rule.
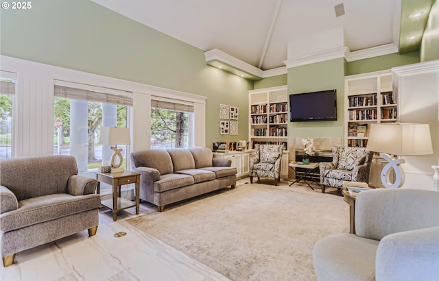
[[[392,67],[403,66],[406,64],[416,64],[419,62],[419,52],[411,53],[390,53],[388,55],[375,58],[366,58],[364,60],[355,60],[346,63],[346,76],[359,73],[368,73],[392,69]]]

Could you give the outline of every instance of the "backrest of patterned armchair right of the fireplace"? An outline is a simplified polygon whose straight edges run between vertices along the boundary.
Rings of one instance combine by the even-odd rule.
[[[373,151],[361,147],[332,147],[333,162],[337,169],[352,171],[355,167],[372,161]]]

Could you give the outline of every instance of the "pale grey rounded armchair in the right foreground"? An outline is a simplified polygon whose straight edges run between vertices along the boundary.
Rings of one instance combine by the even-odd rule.
[[[436,191],[359,193],[356,234],[332,234],[313,247],[318,280],[438,280],[438,214]]]

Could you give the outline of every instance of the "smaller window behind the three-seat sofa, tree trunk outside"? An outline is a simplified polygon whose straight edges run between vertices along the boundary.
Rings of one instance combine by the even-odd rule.
[[[193,106],[151,101],[151,149],[193,146]]]

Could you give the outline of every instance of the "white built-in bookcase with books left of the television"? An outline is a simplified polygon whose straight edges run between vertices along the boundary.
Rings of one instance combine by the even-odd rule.
[[[282,144],[287,150],[287,86],[250,90],[248,92],[250,148],[257,143]],[[260,122],[262,121],[262,122]]]

